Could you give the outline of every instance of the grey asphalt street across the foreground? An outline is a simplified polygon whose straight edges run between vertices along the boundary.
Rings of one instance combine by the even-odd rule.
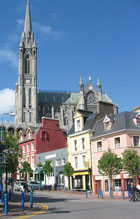
[[[48,211],[34,219],[137,219],[140,202],[85,198],[64,192],[35,192],[34,203],[45,203]]]

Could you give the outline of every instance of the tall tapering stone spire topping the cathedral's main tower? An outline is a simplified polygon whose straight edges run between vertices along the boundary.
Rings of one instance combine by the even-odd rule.
[[[32,24],[31,24],[31,14],[30,14],[29,0],[27,0],[26,16],[25,16],[25,24],[24,24],[24,32],[32,32]]]

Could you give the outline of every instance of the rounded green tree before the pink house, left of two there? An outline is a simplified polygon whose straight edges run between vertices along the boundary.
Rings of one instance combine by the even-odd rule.
[[[117,157],[115,153],[112,153],[110,149],[108,152],[104,152],[98,161],[99,173],[108,176],[111,184],[113,175],[119,174],[122,171],[122,167],[122,159]]]

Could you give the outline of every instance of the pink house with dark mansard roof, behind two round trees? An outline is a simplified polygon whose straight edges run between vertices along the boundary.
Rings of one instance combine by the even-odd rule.
[[[112,152],[122,157],[124,150],[134,147],[140,155],[140,114],[138,112],[122,112],[117,115],[106,115],[97,122],[91,137],[92,148],[92,174],[93,193],[102,190],[109,194],[109,179],[98,172],[98,161],[105,151],[110,148]],[[113,194],[121,195],[122,190],[127,191],[130,177],[126,172],[113,177]],[[137,184],[140,179],[137,178]],[[126,192],[127,194],[127,192]]]

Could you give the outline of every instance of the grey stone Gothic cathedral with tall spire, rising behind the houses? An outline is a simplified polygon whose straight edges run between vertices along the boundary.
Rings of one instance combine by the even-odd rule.
[[[112,103],[107,94],[102,93],[99,79],[96,89],[92,85],[91,77],[89,77],[87,86],[84,86],[82,77],[79,76],[78,92],[42,92],[37,90],[38,76],[37,46],[32,31],[29,0],[27,0],[24,31],[19,44],[15,125],[37,127],[41,123],[41,117],[49,117],[58,119],[60,128],[68,132],[73,124],[73,116],[77,109],[97,112],[99,101]],[[113,106],[114,113],[116,113],[117,106],[115,104]]]

